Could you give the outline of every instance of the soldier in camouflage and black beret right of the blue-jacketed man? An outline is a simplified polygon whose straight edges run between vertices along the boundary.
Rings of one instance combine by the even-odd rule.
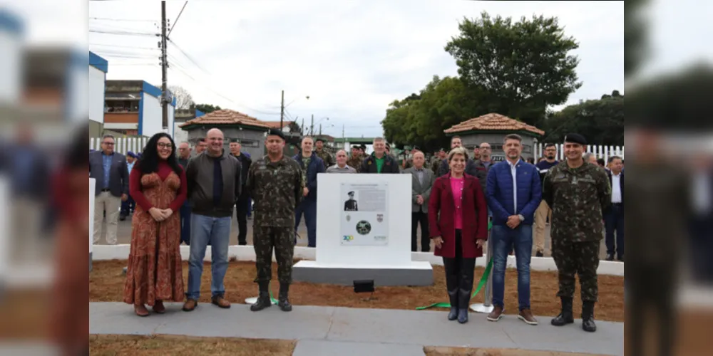
[[[582,135],[565,137],[567,160],[552,167],[543,183],[543,199],[552,208],[552,257],[559,271],[562,313],[552,325],[574,323],[572,303],[575,274],[582,287],[582,328],[595,332],[597,268],[602,241],[602,211],[611,204],[609,178],[602,167],[583,160],[587,141]]]

